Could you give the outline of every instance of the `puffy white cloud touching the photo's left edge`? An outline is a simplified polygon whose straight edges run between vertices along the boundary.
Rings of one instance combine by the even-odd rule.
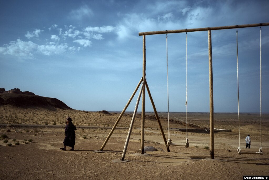
[[[37,44],[32,41],[10,41],[7,47],[1,47],[0,52],[21,58],[32,58],[33,51],[36,49]]]

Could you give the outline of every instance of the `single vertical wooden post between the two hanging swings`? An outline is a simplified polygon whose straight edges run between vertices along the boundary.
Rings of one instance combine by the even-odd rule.
[[[209,106],[210,106],[210,158],[214,159],[214,103],[213,103],[213,68],[211,30],[208,30],[208,59],[209,59]]]

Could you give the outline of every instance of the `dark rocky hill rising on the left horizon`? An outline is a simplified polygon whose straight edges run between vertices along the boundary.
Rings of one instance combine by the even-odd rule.
[[[9,91],[6,91],[5,88],[0,88],[0,106],[3,105],[51,110],[55,110],[55,108],[72,109],[59,99],[38,96],[29,91],[22,92],[19,88],[14,88]]]

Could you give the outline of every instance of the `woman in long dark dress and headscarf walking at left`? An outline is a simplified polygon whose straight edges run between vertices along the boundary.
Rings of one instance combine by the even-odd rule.
[[[76,126],[72,123],[72,119],[68,117],[66,119],[65,126],[65,139],[63,140],[63,148],[61,150],[65,151],[66,146],[71,147],[70,151],[74,151],[75,141],[76,141]]]

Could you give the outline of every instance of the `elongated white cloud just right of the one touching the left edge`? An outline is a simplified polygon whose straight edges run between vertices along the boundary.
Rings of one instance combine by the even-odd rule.
[[[62,54],[66,51],[68,45],[66,43],[63,44],[55,44],[55,45],[40,45],[37,47],[38,51],[42,54],[50,56],[51,54]]]

